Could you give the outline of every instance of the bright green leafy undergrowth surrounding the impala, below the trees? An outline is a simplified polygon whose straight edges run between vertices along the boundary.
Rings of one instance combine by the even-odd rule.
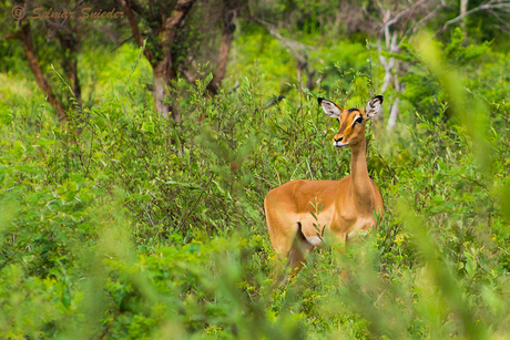
[[[295,89],[265,110],[267,78],[214,99],[203,82],[178,82],[180,124],[153,113],[140,74],[67,126],[42,97],[7,94],[0,337],[508,338],[508,79],[473,56],[496,78],[483,85],[441,47],[412,49],[409,76],[430,86],[408,87],[398,131],[369,123],[367,133],[379,228],[344,254],[316,249],[280,286],[264,196],[349,173],[349,151],[330,143],[338,123],[314,96],[341,103],[350,91],[363,107],[366,74],[339,79],[347,89],[336,93]]]

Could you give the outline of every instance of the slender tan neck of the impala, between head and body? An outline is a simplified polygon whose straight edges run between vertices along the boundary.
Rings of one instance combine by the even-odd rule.
[[[353,197],[359,212],[371,213],[374,188],[368,176],[365,138],[351,145],[350,176],[353,177]]]

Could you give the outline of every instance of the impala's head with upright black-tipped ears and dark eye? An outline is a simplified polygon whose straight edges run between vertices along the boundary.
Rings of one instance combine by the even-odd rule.
[[[323,97],[318,99],[318,103],[329,117],[337,119],[340,123],[340,128],[333,142],[333,145],[336,147],[356,145],[364,141],[366,123],[382,111],[382,95],[373,97],[365,110],[344,110],[334,102]]]

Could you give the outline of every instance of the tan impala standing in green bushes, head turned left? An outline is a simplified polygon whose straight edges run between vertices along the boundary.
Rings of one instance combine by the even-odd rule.
[[[365,140],[366,123],[381,112],[382,96],[375,96],[365,110],[344,110],[322,97],[318,103],[340,123],[333,145],[350,147],[350,175],[340,181],[292,181],[272,189],[264,199],[271,244],[297,270],[314,247],[323,246],[324,230],[319,234],[316,226],[325,226],[345,245],[359,231],[376,227],[375,214],[382,214],[379,189],[368,176]],[[320,213],[314,217],[310,212],[316,214],[319,206]]]

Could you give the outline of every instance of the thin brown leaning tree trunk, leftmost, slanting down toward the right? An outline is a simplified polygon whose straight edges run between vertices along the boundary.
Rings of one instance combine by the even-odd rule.
[[[47,95],[48,102],[55,109],[59,120],[61,122],[67,122],[69,119],[65,113],[65,109],[62,105],[62,102],[54,95],[50,84],[48,84],[47,80],[44,79],[41,65],[39,64],[39,60],[33,51],[30,21],[21,27],[21,40],[23,42],[24,53],[27,54],[29,68],[35,78],[35,82],[42,92],[44,92]]]

